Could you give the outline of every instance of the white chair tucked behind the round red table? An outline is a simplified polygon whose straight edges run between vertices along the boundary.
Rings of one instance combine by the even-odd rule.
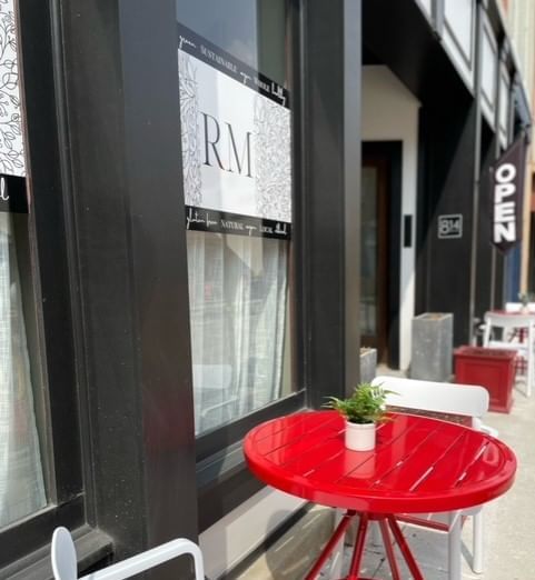
[[[404,409],[418,409],[436,413],[448,413],[468,418],[474,429],[494,437],[497,431],[482,421],[488,410],[488,392],[483,387],[433,382],[399,377],[376,377],[373,384],[380,384],[394,391],[387,394],[386,404]],[[444,531],[448,534],[448,578],[460,579],[460,526],[466,516],[474,517],[472,569],[483,572],[483,513],[482,507],[455,511],[447,514],[426,513],[418,516],[399,514],[398,519],[408,523]],[[442,521],[446,516],[446,521]]]

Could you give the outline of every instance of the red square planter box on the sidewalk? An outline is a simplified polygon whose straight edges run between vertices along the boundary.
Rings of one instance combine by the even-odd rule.
[[[516,352],[459,347],[454,354],[456,382],[485,387],[491,397],[491,411],[508,413],[513,404]]]

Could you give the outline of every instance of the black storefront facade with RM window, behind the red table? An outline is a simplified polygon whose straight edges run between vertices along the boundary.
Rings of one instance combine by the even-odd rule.
[[[23,167],[9,166],[14,137],[4,132],[2,174],[8,186],[23,180],[17,197],[28,207],[2,206],[0,222],[10,320],[0,578],[50,579],[60,524],[80,571],[188,537],[210,578],[230,578],[299,514],[248,473],[241,440],[358,381],[361,239],[371,231],[361,149],[386,151],[389,163],[389,289],[373,314],[386,359],[404,366],[407,320],[419,311],[454,312],[456,343],[470,340],[473,319],[501,301],[504,270],[487,242],[482,176],[529,110],[499,11],[468,3],[468,73],[445,44],[455,34],[438,0],[429,11],[416,0],[13,3],[3,22],[20,102],[9,114]],[[419,103],[408,198],[406,142],[377,133],[361,147],[369,66]],[[201,162],[188,164],[188,152]],[[214,207],[227,191],[229,204]],[[248,209],[237,191],[267,201]],[[443,214],[463,216],[462,238],[436,237]],[[226,546],[225,529],[239,536],[248,514],[262,531]],[[153,578],[177,572],[187,563]]]

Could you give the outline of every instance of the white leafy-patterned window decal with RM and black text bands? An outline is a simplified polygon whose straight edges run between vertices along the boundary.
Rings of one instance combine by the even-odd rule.
[[[287,89],[179,24],[186,227],[289,239]]]

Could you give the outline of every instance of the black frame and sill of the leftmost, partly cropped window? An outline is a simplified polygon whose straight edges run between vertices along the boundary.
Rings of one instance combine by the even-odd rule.
[[[28,166],[28,233],[32,281],[38,297],[39,363],[43,369],[46,390],[46,433],[42,439],[50,448],[43,449],[43,441],[40,441],[47,507],[0,529],[0,577],[6,574],[10,578],[24,573],[24,569],[43,559],[42,549],[49,544],[58,522],[79,529],[87,521],[80,439],[80,381],[75,362],[78,360],[76,352],[80,333],[72,316],[76,290],[71,281],[72,249],[68,242],[71,239],[69,208],[63,189],[65,176],[59,163],[65,142],[58,132],[61,119],[57,114],[56,102],[53,20],[47,2],[19,0],[17,8],[19,78]],[[87,529],[85,533],[89,531]]]

